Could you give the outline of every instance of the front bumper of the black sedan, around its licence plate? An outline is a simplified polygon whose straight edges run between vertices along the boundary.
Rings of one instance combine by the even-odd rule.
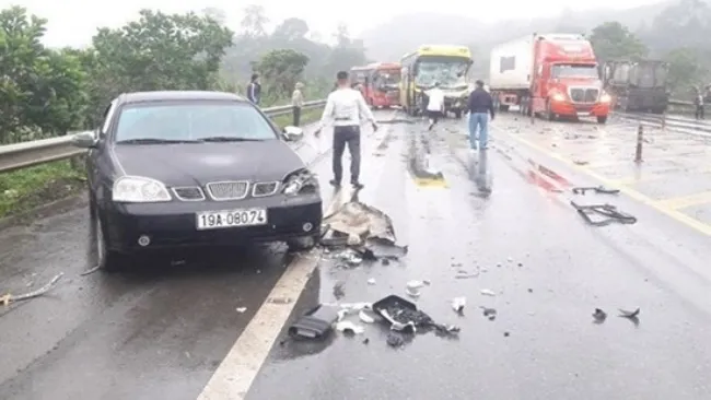
[[[203,211],[264,208],[267,223],[254,226],[197,228]],[[180,247],[235,246],[315,236],[320,232],[322,199],[318,196],[275,196],[220,202],[108,203],[102,220],[109,250],[135,252]],[[310,230],[305,226],[311,224]],[[139,237],[147,236],[148,245]]]

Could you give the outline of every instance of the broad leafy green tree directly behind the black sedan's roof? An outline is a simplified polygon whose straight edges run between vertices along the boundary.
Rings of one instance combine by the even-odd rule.
[[[94,36],[97,72],[121,77],[124,87],[115,91],[207,90],[232,35],[195,13],[141,10],[138,21],[118,30],[101,28]]]

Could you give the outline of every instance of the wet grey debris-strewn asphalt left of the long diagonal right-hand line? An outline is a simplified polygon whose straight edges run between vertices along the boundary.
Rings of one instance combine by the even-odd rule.
[[[365,141],[360,199],[393,217],[410,252],[349,269],[325,258],[292,315],[318,302],[404,295],[407,281],[429,280],[417,304],[461,326],[458,340],[418,336],[394,350],[377,326],[315,343],[282,332],[248,399],[711,398],[708,238],[625,197],[618,205],[640,223],[586,226],[564,193],[532,183],[521,160],[543,156],[506,138],[516,123],[496,122],[490,196],[465,170],[463,122],[444,121],[431,140],[431,165],[447,188],[420,187],[406,170],[406,134],[421,126],[384,126],[392,140],[377,155],[380,140]],[[314,168],[328,179],[327,160]],[[289,261],[270,246],[79,277],[91,267],[88,232],[86,211],[74,210],[0,237],[3,286],[66,273],[50,295],[0,311],[0,398],[195,399]],[[455,296],[467,297],[464,317],[450,307]],[[496,307],[497,320],[479,306]],[[602,325],[592,323],[595,307],[609,314]],[[617,317],[636,307],[639,326]]]

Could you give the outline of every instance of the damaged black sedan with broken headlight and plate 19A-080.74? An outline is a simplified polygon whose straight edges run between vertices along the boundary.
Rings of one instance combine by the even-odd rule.
[[[100,266],[154,249],[285,242],[313,247],[318,181],[257,107],[231,93],[123,94],[95,132],[86,172]],[[130,262],[130,261],[129,261]]]

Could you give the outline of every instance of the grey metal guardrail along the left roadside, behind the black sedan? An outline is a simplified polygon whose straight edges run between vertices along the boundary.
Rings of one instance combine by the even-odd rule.
[[[319,108],[326,104],[325,99],[306,102],[302,109]],[[293,111],[293,106],[277,106],[263,108],[269,117],[280,117]],[[86,152],[72,145],[72,139],[78,133],[71,132],[59,138],[34,140],[15,144],[0,145],[0,173],[22,169],[53,161],[71,158]]]

